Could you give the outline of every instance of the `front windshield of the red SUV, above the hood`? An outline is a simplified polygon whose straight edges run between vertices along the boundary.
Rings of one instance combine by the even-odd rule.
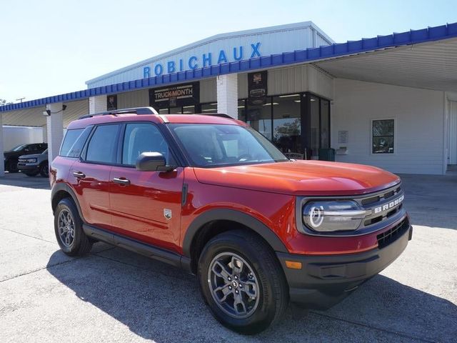
[[[194,166],[235,166],[288,161],[250,127],[223,124],[170,124]]]

